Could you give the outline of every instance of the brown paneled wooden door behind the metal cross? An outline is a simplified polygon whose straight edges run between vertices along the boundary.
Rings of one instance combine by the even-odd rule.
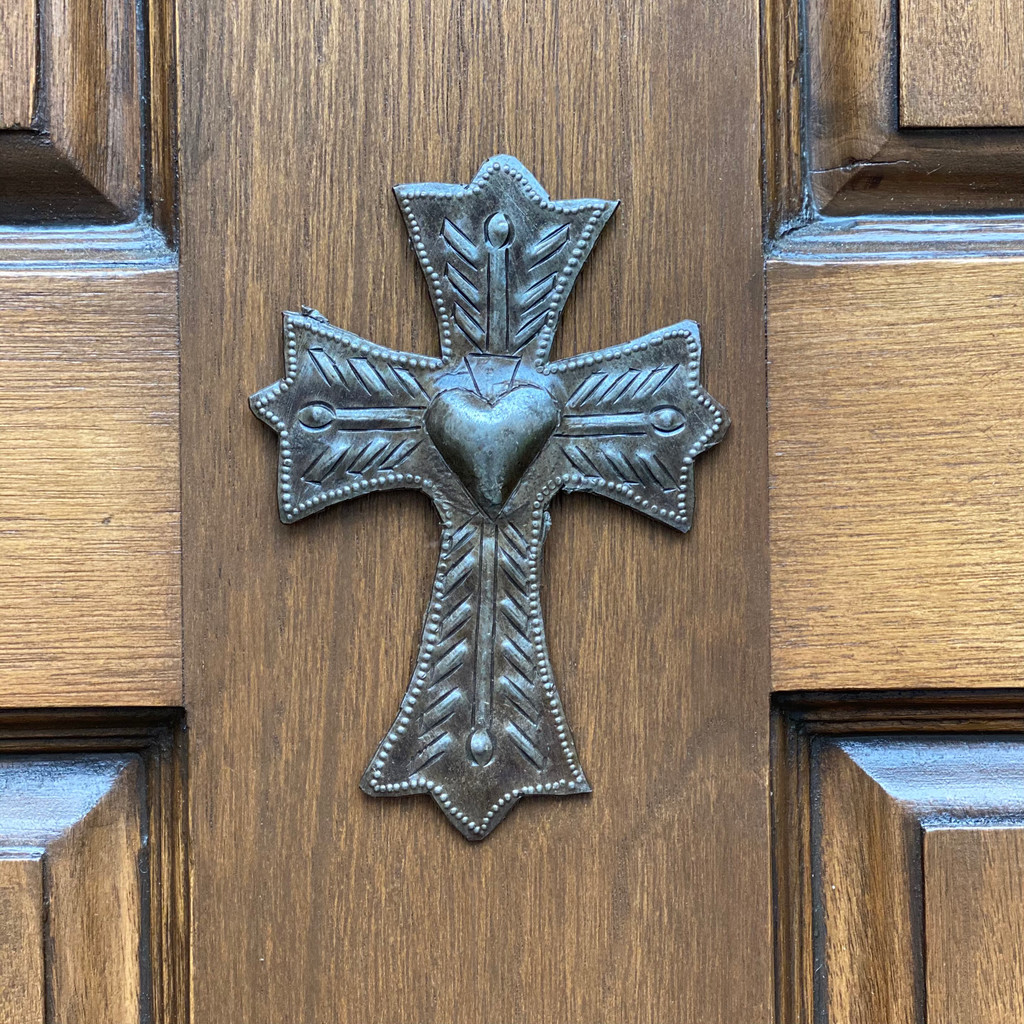
[[[1024,115],[983,7],[8,3],[2,1024],[1024,1019]],[[359,788],[433,507],[282,522],[248,398],[284,310],[434,355],[391,186],[496,154],[620,201],[555,356],[696,321],[732,425],[685,536],[555,500],[593,792],[467,842]]]

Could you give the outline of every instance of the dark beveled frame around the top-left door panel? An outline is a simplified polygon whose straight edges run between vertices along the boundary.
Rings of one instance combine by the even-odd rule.
[[[44,225],[137,221],[176,247],[176,0],[38,6],[34,117],[0,131],[0,229],[20,225],[45,249]]]

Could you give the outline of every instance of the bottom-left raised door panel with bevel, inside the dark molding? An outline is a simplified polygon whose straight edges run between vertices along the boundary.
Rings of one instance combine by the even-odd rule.
[[[4,941],[4,973],[23,979],[0,996],[18,1011],[4,1021],[142,1019],[143,771],[131,756],[0,758],[0,846],[23,883],[0,932],[26,926],[16,947]]]

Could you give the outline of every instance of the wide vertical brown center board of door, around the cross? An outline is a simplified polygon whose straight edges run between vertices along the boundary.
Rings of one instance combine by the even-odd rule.
[[[753,0],[182,6],[197,1020],[768,1017],[757,42]],[[554,508],[546,617],[595,792],[524,801],[471,846],[426,798],[357,790],[411,671],[430,508],[380,495],[283,526],[246,396],[302,302],[433,352],[390,186],[502,152],[555,197],[623,201],[558,352],[693,316],[733,427],[685,538]]]

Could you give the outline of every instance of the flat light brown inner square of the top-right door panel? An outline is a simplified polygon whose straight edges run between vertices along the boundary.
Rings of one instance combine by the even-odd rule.
[[[1024,7],[899,0],[899,120],[907,128],[1024,125]]]

